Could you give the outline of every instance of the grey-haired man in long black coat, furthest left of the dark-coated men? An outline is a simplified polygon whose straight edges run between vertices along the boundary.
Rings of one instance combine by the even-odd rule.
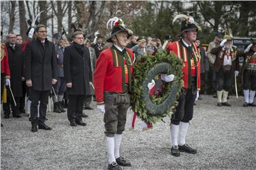
[[[7,88],[7,103],[3,103],[3,112],[5,114],[4,118],[10,118],[10,104],[12,105],[12,115],[14,118],[21,118],[19,103],[22,97],[22,81],[25,80],[23,75],[23,65],[24,65],[24,53],[20,44],[16,44],[16,34],[9,33],[7,36],[8,42],[5,44],[8,53],[8,61],[10,67],[11,77],[11,88],[14,95],[16,105],[14,104],[14,99]]]

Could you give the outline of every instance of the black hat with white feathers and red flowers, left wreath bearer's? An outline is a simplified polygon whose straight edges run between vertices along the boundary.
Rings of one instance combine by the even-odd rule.
[[[107,22],[107,29],[108,24],[110,24],[110,28],[112,29],[110,36],[107,38],[108,42],[112,42],[112,37],[114,37],[116,34],[120,33],[121,31],[125,31],[128,33],[128,37],[130,37],[133,32],[130,29],[127,29],[123,20],[118,17],[110,18]],[[114,25],[114,27],[112,27]]]

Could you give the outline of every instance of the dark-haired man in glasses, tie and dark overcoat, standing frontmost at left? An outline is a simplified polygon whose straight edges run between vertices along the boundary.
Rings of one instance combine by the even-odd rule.
[[[31,87],[31,131],[51,130],[44,122],[48,97],[52,84],[57,82],[57,61],[54,44],[46,38],[46,27],[42,24],[35,29],[37,39],[29,42],[26,49],[26,84]],[[39,118],[37,105],[39,104]]]

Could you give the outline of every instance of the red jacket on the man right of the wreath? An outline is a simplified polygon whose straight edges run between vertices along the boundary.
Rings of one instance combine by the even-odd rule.
[[[179,58],[182,58],[182,65],[183,65],[183,88],[189,88],[189,76],[191,75],[191,70],[189,70],[189,62],[188,62],[188,53],[187,48],[182,44],[181,40],[174,41],[167,46],[167,52],[174,52],[176,56]],[[199,48],[197,48],[197,45],[195,43],[192,44],[192,51],[196,59],[197,64],[197,89],[200,89],[200,52]],[[191,57],[192,58],[192,57]]]

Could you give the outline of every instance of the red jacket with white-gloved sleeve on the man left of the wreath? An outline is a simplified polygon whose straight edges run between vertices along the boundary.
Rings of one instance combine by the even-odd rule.
[[[129,56],[129,63],[133,63],[133,52],[126,48],[126,54]],[[94,86],[95,96],[98,104],[103,104],[103,92],[123,92],[123,75],[121,67],[121,58],[117,54],[116,50],[108,48],[103,50],[99,54],[97,59],[95,73],[94,73]],[[131,75],[133,71],[133,65],[125,64],[125,84],[129,84],[129,76],[127,73],[127,67],[130,67]]]

